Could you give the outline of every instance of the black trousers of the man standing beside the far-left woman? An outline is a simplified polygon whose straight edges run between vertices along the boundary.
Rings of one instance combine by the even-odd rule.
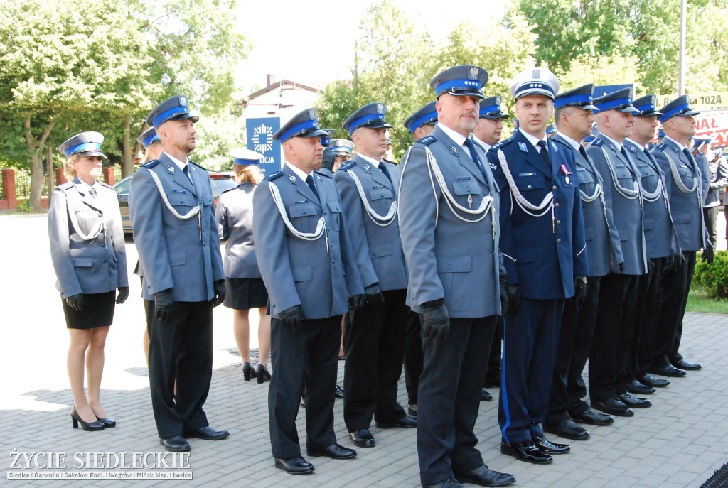
[[[202,405],[213,376],[213,305],[175,302],[172,320],[162,322],[154,314],[154,301],[145,302],[149,390],[157,433],[162,439],[184,436],[209,425]]]

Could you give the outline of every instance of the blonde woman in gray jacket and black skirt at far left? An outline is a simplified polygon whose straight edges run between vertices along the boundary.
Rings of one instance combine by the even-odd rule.
[[[103,135],[83,132],[60,145],[69,180],[55,188],[48,212],[50,252],[63,298],[68,348],[68,379],[74,394],[74,428],[114,427],[99,401],[103,346],[116,303],[129,295],[127,258],[119,203],[114,188],[96,181],[101,175]],[[88,351],[88,352],[87,352]],[[84,358],[88,397],[84,394]]]

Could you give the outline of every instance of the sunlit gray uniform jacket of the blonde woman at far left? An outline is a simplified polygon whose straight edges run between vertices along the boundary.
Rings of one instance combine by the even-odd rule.
[[[94,188],[95,198],[84,193],[75,178],[58,185],[50,201],[50,255],[58,277],[56,288],[64,298],[129,286],[116,191],[101,182]]]

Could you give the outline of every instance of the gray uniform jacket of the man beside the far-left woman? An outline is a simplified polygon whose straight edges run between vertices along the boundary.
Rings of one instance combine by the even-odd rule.
[[[199,206],[199,213],[183,220],[167,207],[151,173],[179,215]],[[213,284],[225,279],[210,177],[190,163],[194,188],[166,153],[140,167],[132,177],[129,214],[134,244],[143,269],[142,297],[173,289],[175,302],[204,302],[215,296]]]

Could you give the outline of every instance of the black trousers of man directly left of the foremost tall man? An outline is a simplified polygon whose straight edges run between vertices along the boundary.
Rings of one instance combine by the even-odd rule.
[[[384,305],[351,312],[344,362],[344,423],[349,432],[369,428],[371,419],[392,423],[405,416],[397,403],[409,307],[406,289],[387,290]]]

